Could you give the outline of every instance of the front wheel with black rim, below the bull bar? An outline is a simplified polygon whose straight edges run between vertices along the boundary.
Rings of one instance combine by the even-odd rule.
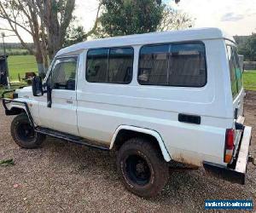
[[[35,132],[26,113],[14,118],[11,124],[11,135],[15,143],[22,148],[37,148],[45,139],[45,135]]]

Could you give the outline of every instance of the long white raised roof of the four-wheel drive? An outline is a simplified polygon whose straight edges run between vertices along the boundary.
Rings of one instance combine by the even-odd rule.
[[[233,37],[228,36],[218,28],[191,28],[189,30],[172,31],[172,32],[150,32],[145,34],[137,34],[123,37],[107,37],[92,41],[76,43],[70,47],[61,49],[58,55],[66,55],[70,52],[79,51],[80,49],[96,49],[104,47],[120,47],[131,45],[143,45],[147,43],[168,43],[183,42],[193,40],[207,40],[226,38],[235,43]]]

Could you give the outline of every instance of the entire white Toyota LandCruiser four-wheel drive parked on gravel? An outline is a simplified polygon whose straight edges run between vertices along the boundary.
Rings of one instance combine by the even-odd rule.
[[[171,161],[241,184],[254,161],[236,43],[216,28],[78,43],[55,55],[44,82],[6,94],[20,147],[50,135],[115,150],[125,187],[139,196],[160,192]]]

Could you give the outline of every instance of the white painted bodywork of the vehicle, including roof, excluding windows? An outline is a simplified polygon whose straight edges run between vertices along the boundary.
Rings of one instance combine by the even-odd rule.
[[[78,43],[61,49],[56,57],[79,55],[77,90],[53,94],[52,108],[46,108],[46,94],[32,97],[31,88],[18,90],[37,103],[32,110],[36,123],[54,130],[98,141],[113,147],[121,128],[153,135],[166,159],[201,165],[202,161],[224,164],[225,130],[234,126],[230,72],[225,34],[215,28],[149,33]],[[232,38],[230,38],[232,39]],[[202,88],[146,86],[137,83],[139,50],[143,44],[184,41],[205,43],[207,84]],[[100,47],[134,48],[133,79],[130,84],[88,83],[85,80],[86,53]],[[49,74],[48,74],[49,75]],[[243,92],[239,97],[243,98]],[[72,95],[73,107],[65,99]],[[236,100],[234,103],[236,106]],[[44,106],[44,107],[43,107]],[[178,113],[201,116],[201,124],[177,121]],[[77,129],[77,130],[76,130]],[[225,164],[224,164],[225,165]]]

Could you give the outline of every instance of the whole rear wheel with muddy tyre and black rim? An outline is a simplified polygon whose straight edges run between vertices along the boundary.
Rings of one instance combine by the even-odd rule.
[[[133,138],[120,147],[118,170],[125,187],[145,198],[160,193],[169,176],[158,147],[143,138]]]

